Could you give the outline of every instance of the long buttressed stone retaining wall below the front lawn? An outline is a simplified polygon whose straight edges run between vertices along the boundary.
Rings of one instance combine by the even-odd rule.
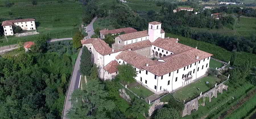
[[[202,106],[205,106],[205,98],[209,98],[209,102],[211,102],[212,97],[217,98],[218,93],[223,93],[223,90],[228,90],[228,86],[223,84],[217,85],[216,87],[212,88],[211,90],[207,91],[206,93],[202,94],[201,96],[196,97],[195,99],[185,103],[185,108],[182,112],[182,117],[186,115],[190,115],[191,111],[193,109],[198,110],[199,104],[198,100],[203,98],[203,103],[201,104]]]

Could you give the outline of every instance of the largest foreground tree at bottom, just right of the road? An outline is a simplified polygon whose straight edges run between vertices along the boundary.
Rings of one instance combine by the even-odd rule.
[[[67,113],[68,118],[107,119],[106,112],[112,111],[115,104],[107,100],[108,92],[99,79],[90,80],[85,90],[75,90],[71,95],[73,107]]]

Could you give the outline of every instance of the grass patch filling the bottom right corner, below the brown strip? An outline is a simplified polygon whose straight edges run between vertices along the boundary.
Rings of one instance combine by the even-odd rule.
[[[225,119],[245,118],[252,111],[254,111],[254,109],[256,109],[256,95],[247,100],[241,107],[239,107],[239,109],[226,116]]]

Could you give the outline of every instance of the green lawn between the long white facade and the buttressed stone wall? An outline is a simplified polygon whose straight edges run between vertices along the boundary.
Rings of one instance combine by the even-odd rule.
[[[191,84],[177,90],[173,95],[180,101],[187,101],[189,99],[193,99],[194,97],[197,97],[206,91],[208,91],[210,88],[206,85],[206,82],[208,81],[210,84],[213,86],[216,83],[217,77],[212,77],[212,76],[206,76],[201,78],[200,80],[197,80],[195,82],[192,82]],[[198,90],[198,88],[200,90]]]

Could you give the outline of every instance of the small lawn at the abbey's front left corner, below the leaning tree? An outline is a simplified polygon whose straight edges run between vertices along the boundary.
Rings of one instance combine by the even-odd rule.
[[[132,87],[128,87],[128,88],[132,92],[137,94],[139,97],[142,97],[143,99],[153,94],[153,92],[151,92],[150,90],[148,90],[147,88],[145,88],[144,86],[141,86],[141,85],[139,85],[139,86],[132,86]]]

